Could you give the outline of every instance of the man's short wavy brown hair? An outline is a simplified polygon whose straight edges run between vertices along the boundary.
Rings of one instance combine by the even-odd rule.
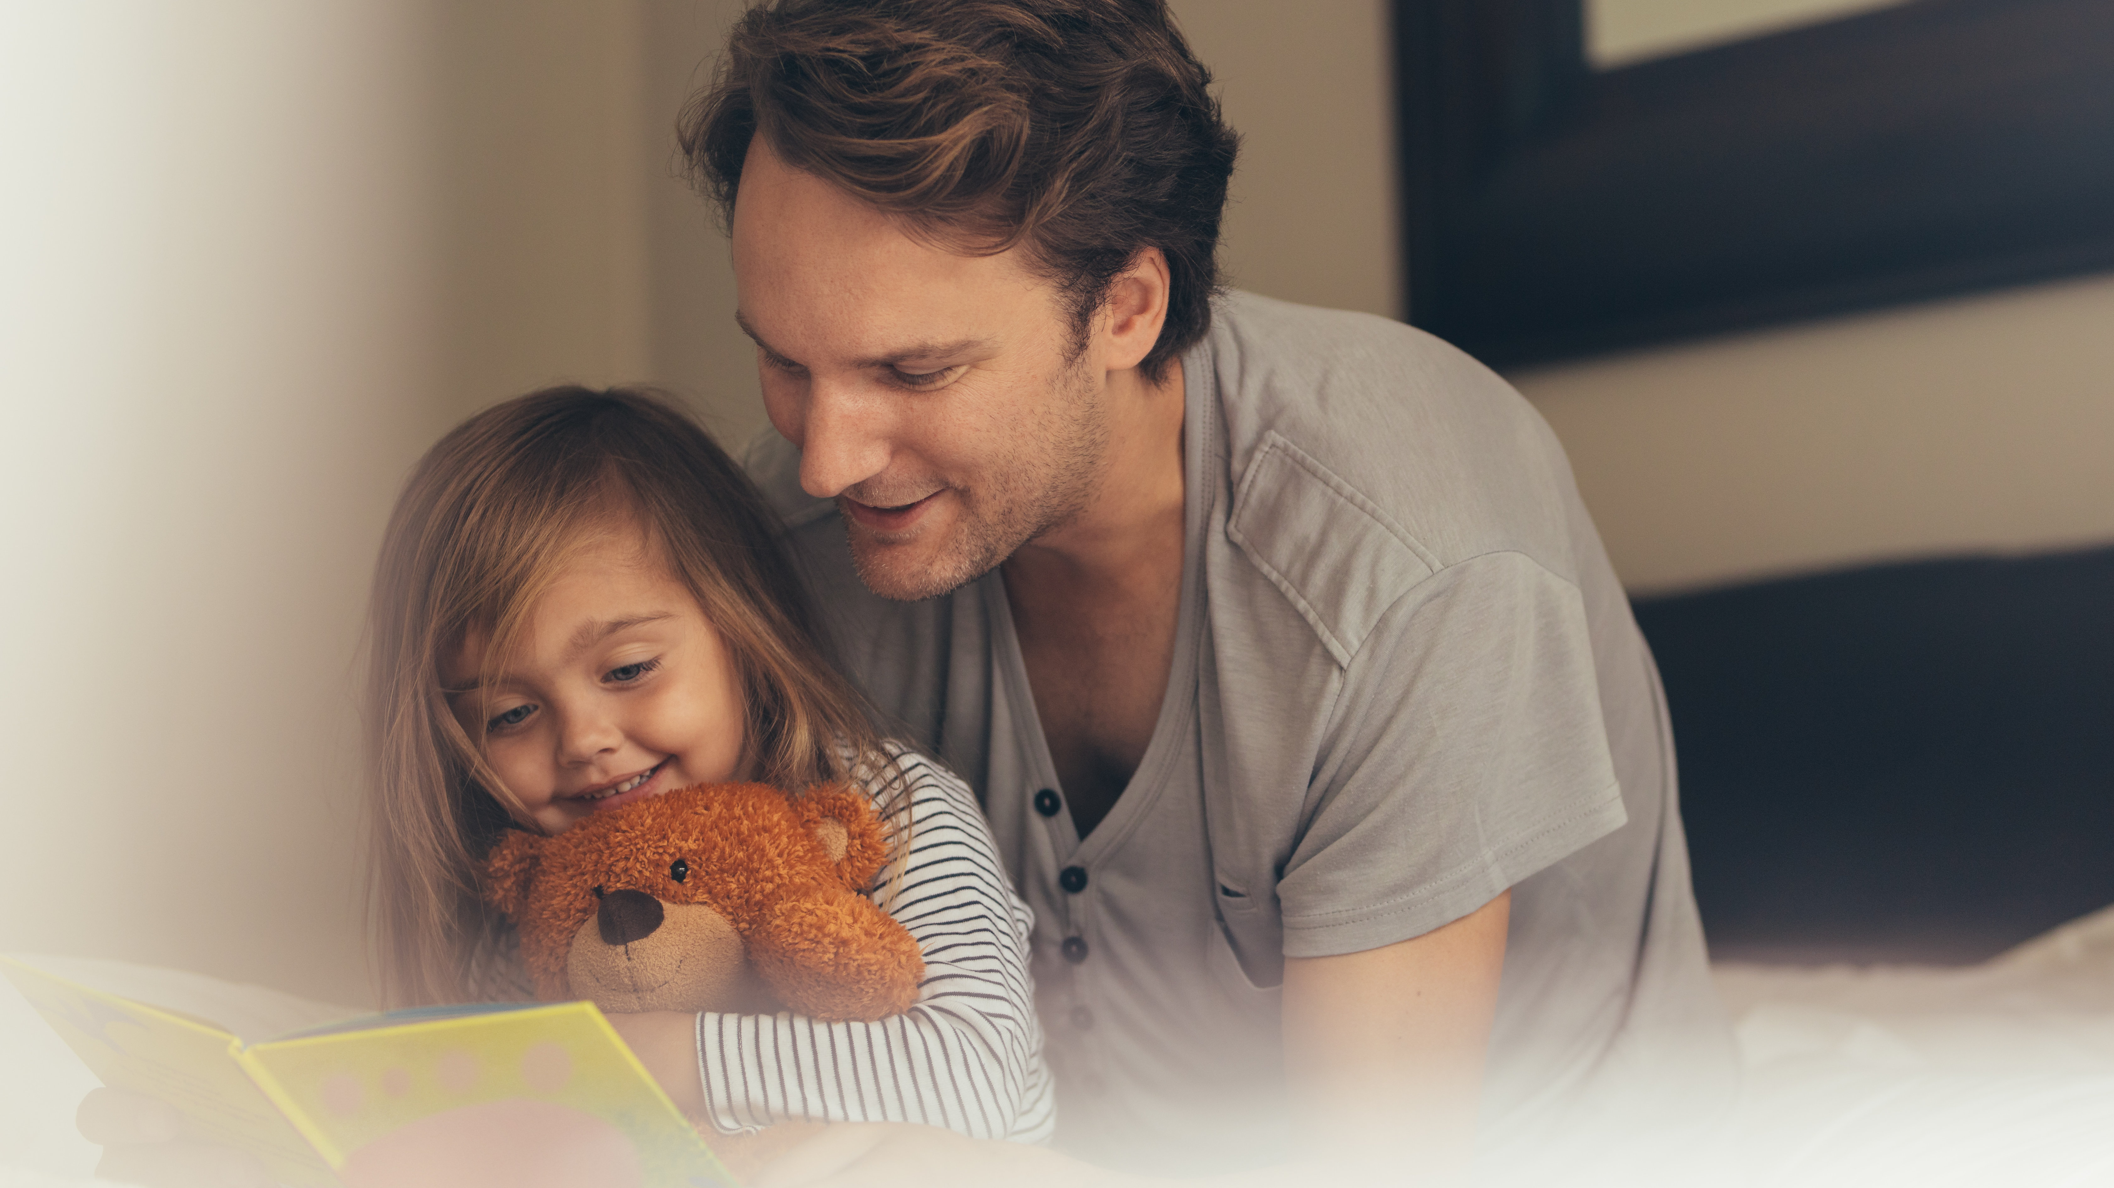
[[[1211,328],[1239,137],[1165,0],[769,0],[681,118],[693,182],[731,226],[757,133],[949,249],[1025,245],[1084,340],[1146,247],[1167,323],[1139,364]]]

